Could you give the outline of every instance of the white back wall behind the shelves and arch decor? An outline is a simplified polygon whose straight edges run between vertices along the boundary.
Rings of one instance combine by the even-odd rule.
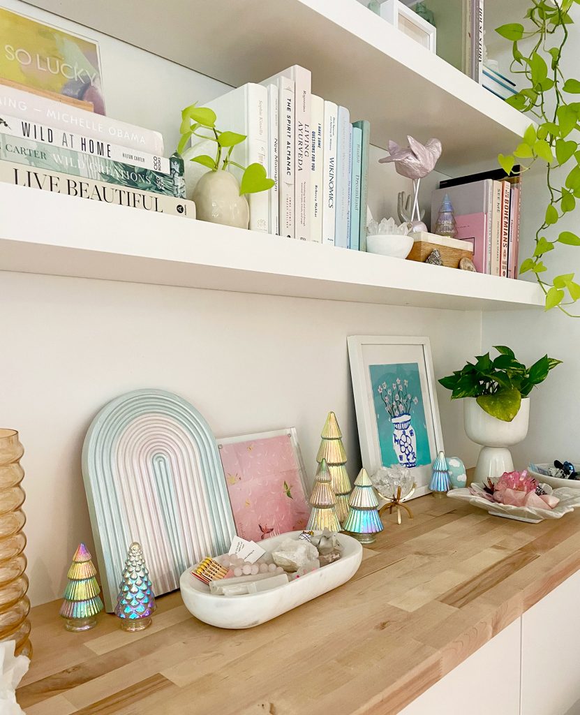
[[[108,114],[161,130],[167,154],[176,145],[181,108],[225,88],[19,0],[0,4],[99,39]],[[376,163],[379,156],[375,149],[369,201],[378,219],[394,213],[396,192],[409,188],[392,167]],[[435,181],[424,182],[426,204]],[[7,272],[0,272],[0,295],[0,425],[18,429],[26,447],[33,603],[61,596],[77,543],[92,546],[81,444],[91,419],[116,395],[143,387],[173,390],[218,436],[294,425],[310,477],[326,413],[335,410],[354,477],[360,455],[346,336],[429,335],[436,377],[481,346],[479,313]],[[474,463],[461,405],[449,403],[443,390],[439,405],[448,453]]]

